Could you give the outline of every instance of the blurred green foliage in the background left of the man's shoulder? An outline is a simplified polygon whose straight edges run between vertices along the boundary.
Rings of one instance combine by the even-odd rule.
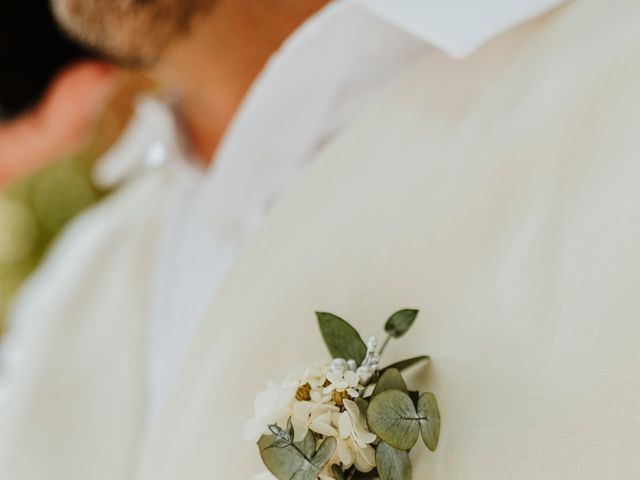
[[[125,75],[81,151],[0,191],[0,331],[16,294],[55,238],[108,194],[93,184],[93,165],[122,133],[138,95],[152,88],[140,75]]]

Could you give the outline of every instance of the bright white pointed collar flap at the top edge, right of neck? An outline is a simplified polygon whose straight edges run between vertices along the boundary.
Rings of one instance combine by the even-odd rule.
[[[455,58],[566,0],[354,0]]]

